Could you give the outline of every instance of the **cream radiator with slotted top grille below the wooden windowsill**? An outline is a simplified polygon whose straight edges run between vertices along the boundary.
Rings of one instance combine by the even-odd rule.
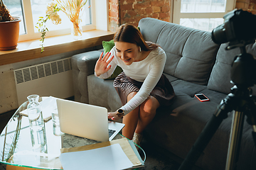
[[[74,96],[71,57],[14,70],[18,106],[27,96]]]

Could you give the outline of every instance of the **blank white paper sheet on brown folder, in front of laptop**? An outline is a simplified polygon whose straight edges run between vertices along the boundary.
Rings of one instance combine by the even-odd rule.
[[[133,166],[119,144],[87,151],[63,153],[60,154],[60,162],[64,170],[120,170]]]

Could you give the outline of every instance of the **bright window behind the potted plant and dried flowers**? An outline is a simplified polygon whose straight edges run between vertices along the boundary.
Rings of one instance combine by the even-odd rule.
[[[53,0],[4,0],[4,4],[9,8],[11,16],[21,18],[19,41],[40,39],[41,34],[35,27],[40,16],[46,16],[46,6]],[[89,8],[90,6],[90,8]],[[82,11],[82,30],[95,29],[93,19],[93,4],[92,0],[87,0]],[[61,23],[54,25],[51,21],[47,21],[47,37],[55,35],[65,35],[70,33],[73,24],[69,21],[68,16],[59,11]]]

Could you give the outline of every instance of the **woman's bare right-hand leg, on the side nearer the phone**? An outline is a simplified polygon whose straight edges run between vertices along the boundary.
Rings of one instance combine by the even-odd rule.
[[[149,98],[142,103],[139,107],[139,120],[135,130],[136,133],[142,134],[146,126],[153,120],[156,115],[156,109],[159,108],[159,106],[159,101],[157,101],[153,96],[149,96]]]

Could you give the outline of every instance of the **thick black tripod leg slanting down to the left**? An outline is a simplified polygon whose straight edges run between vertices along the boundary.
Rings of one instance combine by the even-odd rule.
[[[222,123],[223,119],[228,117],[228,113],[232,111],[231,105],[228,104],[229,96],[223,101],[221,101],[220,105],[218,106],[217,110],[215,111],[213,117],[206,123],[206,127],[199,135],[198,139],[196,140],[195,144],[188,152],[188,155],[183,160],[181,166],[178,170],[188,170],[193,167],[196,163],[198,158],[201,155],[201,152],[206,148],[208,142],[213,137],[214,133]],[[232,102],[231,102],[232,103]]]

